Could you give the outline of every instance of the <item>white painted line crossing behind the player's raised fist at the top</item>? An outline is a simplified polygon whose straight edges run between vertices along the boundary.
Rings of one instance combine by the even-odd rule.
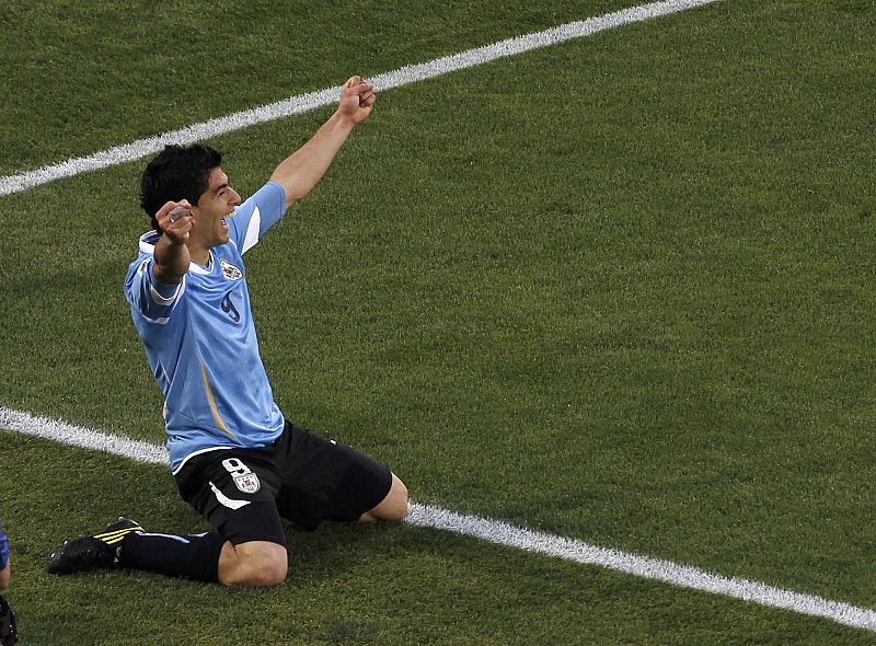
[[[466,51],[461,51],[452,56],[436,58],[428,62],[405,66],[391,72],[378,74],[369,80],[374,83],[378,91],[389,90],[391,88],[440,77],[457,70],[484,65],[506,56],[515,56],[540,47],[556,45],[622,25],[643,22],[687,9],[711,4],[716,1],[717,0],[667,0],[664,2],[652,2],[614,13],[607,13],[599,18],[566,23],[543,32],[508,38],[507,41],[500,41],[485,47],[468,49]],[[48,184],[49,182],[62,177],[72,177],[80,173],[97,171],[100,169],[135,161],[162,150],[168,143],[193,143],[227,132],[233,132],[234,130],[240,130],[256,124],[263,124],[332,105],[337,101],[339,90],[339,88],[330,88],[318,92],[291,96],[284,101],[263,105],[261,107],[212,118],[200,124],[194,124],[180,130],[170,130],[155,137],[149,137],[148,139],[140,139],[131,143],[101,150],[88,157],[72,158],[58,164],[43,166],[36,171],[28,171],[18,175],[0,176],[0,197],[12,195],[13,193],[21,193],[22,191],[42,184]]]

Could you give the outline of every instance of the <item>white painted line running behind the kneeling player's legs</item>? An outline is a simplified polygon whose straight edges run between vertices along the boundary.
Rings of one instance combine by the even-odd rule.
[[[47,417],[0,406],[0,429],[37,436],[83,449],[99,450],[152,464],[168,466],[163,447],[72,426]],[[654,579],[693,590],[724,595],[762,605],[789,610],[876,632],[876,611],[822,597],[774,588],[748,579],[725,577],[688,565],[590,545],[584,541],[532,531],[499,520],[457,514],[439,507],[411,504],[405,519],[411,524],[457,532],[497,543],[583,563],[614,572]]]

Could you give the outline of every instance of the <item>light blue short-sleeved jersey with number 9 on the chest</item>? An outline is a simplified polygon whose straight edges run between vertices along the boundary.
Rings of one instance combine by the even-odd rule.
[[[229,242],[209,263],[189,265],[178,286],[153,273],[159,233],[140,238],[128,267],[125,297],[152,374],[164,393],[171,470],[222,448],[262,447],[283,432],[255,336],[243,254],[283,217],[286,194],[268,183],[229,219]]]

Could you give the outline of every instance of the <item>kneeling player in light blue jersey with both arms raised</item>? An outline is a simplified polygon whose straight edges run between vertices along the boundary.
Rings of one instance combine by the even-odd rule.
[[[241,201],[207,146],[168,146],[142,177],[153,231],[140,238],[125,296],[164,395],[171,471],[212,531],[145,531],[126,518],[68,541],[53,574],[134,567],[224,585],[272,586],[288,569],[280,518],[404,518],[407,489],[387,466],[287,420],[274,402],[250,310],[243,254],[310,193],[353,129],[371,83],[349,79],[332,117]]]

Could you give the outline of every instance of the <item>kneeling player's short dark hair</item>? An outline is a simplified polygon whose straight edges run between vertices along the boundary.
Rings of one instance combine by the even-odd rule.
[[[155,214],[168,201],[187,199],[196,205],[207,191],[210,173],[222,162],[222,153],[209,146],[165,146],[149,162],[140,182],[140,206],[158,231]]]

